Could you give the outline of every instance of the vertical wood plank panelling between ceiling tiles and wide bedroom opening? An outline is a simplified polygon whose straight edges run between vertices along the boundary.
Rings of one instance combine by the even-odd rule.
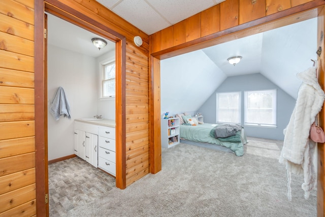
[[[150,35],[150,53],[182,45],[312,0],[226,0]]]

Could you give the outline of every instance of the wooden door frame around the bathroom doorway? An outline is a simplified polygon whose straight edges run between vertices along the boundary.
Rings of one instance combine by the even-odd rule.
[[[116,187],[126,188],[125,78],[126,37],[90,17],[55,0],[35,0],[35,146],[36,146],[36,210],[48,216],[45,194],[48,192],[47,173],[47,76],[45,70],[44,13],[48,12],[88,31],[115,42],[116,62]]]

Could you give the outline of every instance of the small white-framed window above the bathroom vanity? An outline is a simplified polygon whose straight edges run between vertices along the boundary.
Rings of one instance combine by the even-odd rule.
[[[115,61],[103,64],[102,98],[115,97]]]

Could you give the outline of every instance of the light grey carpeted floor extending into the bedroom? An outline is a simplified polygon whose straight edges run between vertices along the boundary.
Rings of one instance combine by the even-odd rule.
[[[286,198],[281,141],[248,140],[242,157],[182,143],[164,149],[157,174],[52,216],[316,216],[316,190],[305,200],[302,176],[293,175]]]

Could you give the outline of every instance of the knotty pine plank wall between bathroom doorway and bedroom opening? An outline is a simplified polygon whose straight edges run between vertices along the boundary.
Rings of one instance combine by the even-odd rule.
[[[126,186],[150,172],[148,59],[126,43]]]

